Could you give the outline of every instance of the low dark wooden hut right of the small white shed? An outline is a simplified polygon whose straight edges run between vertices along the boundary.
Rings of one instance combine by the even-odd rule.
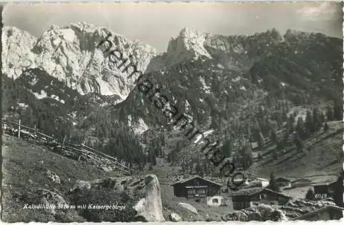
[[[240,210],[259,204],[285,205],[291,197],[266,188],[241,189],[230,194],[233,201],[233,209]]]

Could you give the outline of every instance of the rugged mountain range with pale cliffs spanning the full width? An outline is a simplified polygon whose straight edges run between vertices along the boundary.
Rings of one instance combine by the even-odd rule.
[[[53,25],[39,38],[3,28],[5,114],[30,115],[25,122],[39,122],[47,133],[68,133],[98,146],[109,142],[109,130],[123,126],[140,140],[147,130],[182,137],[137,91],[136,77],[127,78],[128,72],[97,48],[107,34],[123,56],[133,55],[144,78],[159,85],[180,112],[222,140],[238,133],[250,136],[256,129],[267,137],[271,127],[283,125],[275,115],[285,108],[325,109],[343,99],[342,39],[294,30],[224,36],[184,28],[158,54],[107,28],[72,23]],[[261,129],[260,120],[270,128]],[[140,146],[145,144],[142,139]],[[192,143],[186,147],[194,148]]]

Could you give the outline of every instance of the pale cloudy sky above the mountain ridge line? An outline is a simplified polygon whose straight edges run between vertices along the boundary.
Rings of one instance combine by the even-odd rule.
[[[182,28],[214,34],[254,34],[276,28],[343,37],[343,11],[335,2],[7,3],[3,24],[39,37],[51,25],[87,22],[166,52]]]

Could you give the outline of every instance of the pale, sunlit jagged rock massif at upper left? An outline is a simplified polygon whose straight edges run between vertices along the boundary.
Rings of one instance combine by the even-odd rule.
[[[130,72],[123,71],[124,66],[117,66],[132,55],[137,69],[145,72],[156,55],[149,45],[88,23],[72,23],[63,28],[52,25],[39,39],[17,28],[12,28],[12,32],[8,30],[3,32],[3,40],[6,40],[3,42],[3,72],[8,76],[19,77],[23,67],[40,67],[81,94],[115,94],[120,96],[119,101],[127,98],[136,77],[127,78]],[[123,61],[109,62],[105,52],[109,43],[97,46],[107,37],[113,43],[112,49],[116,47],[122,52]]]

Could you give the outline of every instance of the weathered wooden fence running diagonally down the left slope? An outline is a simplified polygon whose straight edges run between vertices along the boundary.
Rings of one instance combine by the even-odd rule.
[[[1,120],[3,126],[3,133],[8,131],[8,133],[12,136],[18,136],[18,138],[30,139],[33,140],[34,144],[45,144],[46,146],[50,147],[60,147],[61,150],[65,151],[72,151],[74,153],[80,153],[87,156],[96,156],[98,158],[102,158],[107,162],[111,162],[114,164],[114,167],[123,173],[124,175],[129,175],[132,171],[129,167],[118,162],[117,158],[112,156],[108,156],[107,154],[97,151],[92,147],[88,147],[85,144],[72,144],[65,142],[65,138],[63,141],[56,140],[52,136],[48,136],[45,133],[41,133],[38,131],[36,125],[34,128],[28,127],[21,124],[21,120],[19,122],[12,122],[9,120]],[[10,129],[8,129],[10,128]]]

